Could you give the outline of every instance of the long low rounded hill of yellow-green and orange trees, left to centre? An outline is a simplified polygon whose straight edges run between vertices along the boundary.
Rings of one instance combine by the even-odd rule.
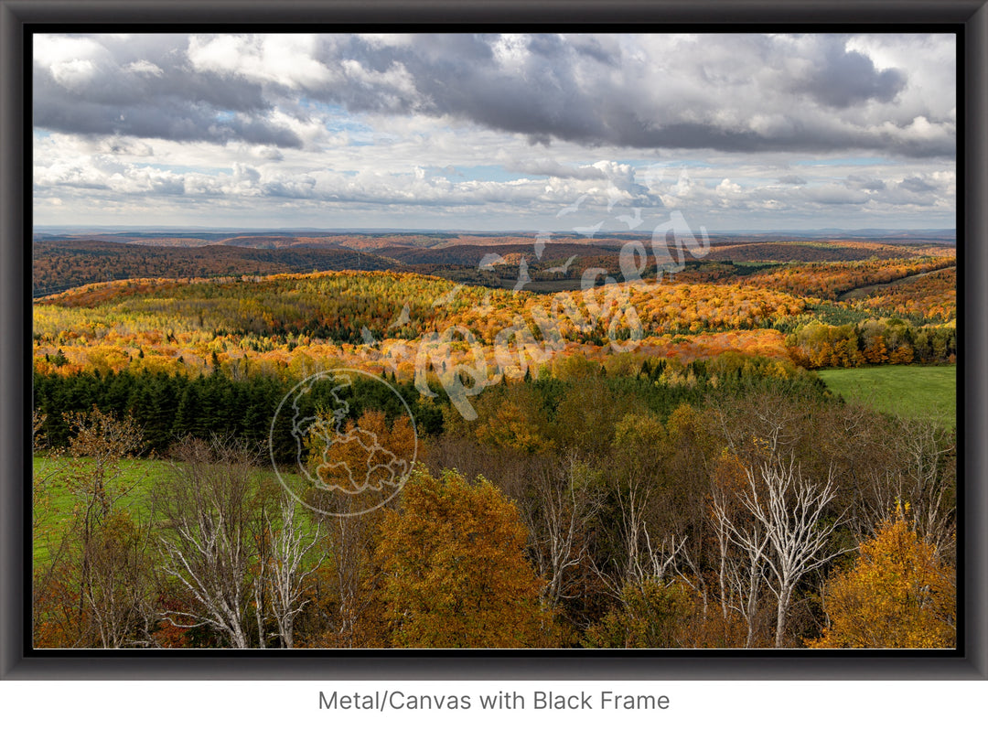
[[[804,301],[783,292],[737,285],[642,282],[553,295],[346,272],[181,285],[148,280],[70,291],[36,306],[35,339],[40,345],[136,344],[137,333],[165,332],[186,341],[251,336],[361,344],[365,330],[375,338],[414,340],[464,327],[491,344],[517,317],[534,327],[539,319],[558,319],[561,335],[579,340],[607,337],[609,325],[632,309],[647,335],[755,329],[804,308]]]

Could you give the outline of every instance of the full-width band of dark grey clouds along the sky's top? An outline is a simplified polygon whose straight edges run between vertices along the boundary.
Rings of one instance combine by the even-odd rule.
[[[879,70],[847,41],[446,34],[323,36],[299,49],[266,37],[99,37],[81,60],[36,53],[36,124],[298,147],[289,120],[314,119],[305,99],[535,144],[952,155],[949,107],[905,110],[905,70]]]

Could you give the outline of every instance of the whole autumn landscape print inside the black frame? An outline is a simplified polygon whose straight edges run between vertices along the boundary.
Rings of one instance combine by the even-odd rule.
[[[35,649],[956,645],[955,36],[31,42]]]

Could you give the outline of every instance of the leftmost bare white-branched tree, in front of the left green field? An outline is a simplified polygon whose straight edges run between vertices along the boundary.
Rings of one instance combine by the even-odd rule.
[[[163,569],[194,601],[165,617],[177,626],[209,626],[233,647],[246,648],[256,458],[228,441],[191,439],[173,455],[173,478],[161,482],[156,494],[164,518]]]

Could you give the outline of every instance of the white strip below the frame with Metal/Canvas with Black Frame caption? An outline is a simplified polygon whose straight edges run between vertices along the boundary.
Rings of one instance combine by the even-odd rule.
[[[319,709],[319,691],[401,690],[470,694],[465,711]],[[482,710],[477,695],[499,690],[666,694],[666,710]],[[981,726],[984,682],[4,682],[8,728],[952,728]]]

